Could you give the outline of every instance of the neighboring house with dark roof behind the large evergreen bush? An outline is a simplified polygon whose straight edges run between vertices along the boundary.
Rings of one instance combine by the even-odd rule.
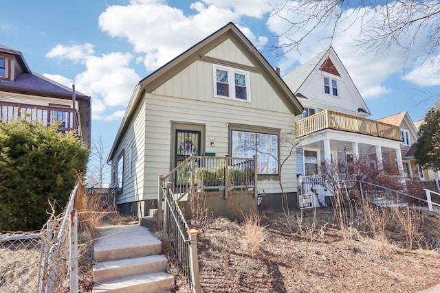
[[[20,51],[0,45],[0,120],[19,117],[61,124],[90,145],[90,97],[32,72]]]

